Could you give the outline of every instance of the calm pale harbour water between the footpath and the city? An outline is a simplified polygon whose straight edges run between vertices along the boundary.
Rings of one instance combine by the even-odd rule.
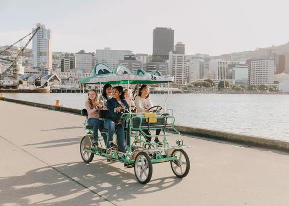
[[[82,109],[84,94],[5,93],[5,97],[60,104]],[[154,105],[164,106],[167,95],[150,95]],[[289,95],[174,94],[167,108],[173,109],[176,124],[237,132],[289,141]]]

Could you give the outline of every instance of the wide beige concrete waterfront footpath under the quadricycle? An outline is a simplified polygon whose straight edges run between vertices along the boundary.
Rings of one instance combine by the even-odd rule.
[[[288,153],[182,136],[188,176],[154,164],[142,185],[121,163],[82,161],[83,120],[0,100],[0,205],[289,205]]]

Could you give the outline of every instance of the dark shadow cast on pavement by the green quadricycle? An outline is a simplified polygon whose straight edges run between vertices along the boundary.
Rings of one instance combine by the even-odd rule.
[[[153,179],[142,185],[133,173],[111,164],[102,159],[90,164],[70,162],[31,170],[22,176],[0,177],[0,203],[88,205],[109,200],[117,204],[135,199],[137,195],[170,188],[182,181],[172,176]]]

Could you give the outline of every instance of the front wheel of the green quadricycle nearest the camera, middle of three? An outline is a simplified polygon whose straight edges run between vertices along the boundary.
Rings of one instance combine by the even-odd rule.
[[[153,175],[153,164],[146,152],[139,152],[134,160],[134,174],[141,184],[148,183]]]

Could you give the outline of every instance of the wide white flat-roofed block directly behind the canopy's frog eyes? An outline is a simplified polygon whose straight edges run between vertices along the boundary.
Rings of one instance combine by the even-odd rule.
[[[132,51],[129,50],[111,50],[109,47],[95,51],[96,62],[106,64],[112,70],[117,67],[119,60],[124,60],[124,56],[131,54]]]

